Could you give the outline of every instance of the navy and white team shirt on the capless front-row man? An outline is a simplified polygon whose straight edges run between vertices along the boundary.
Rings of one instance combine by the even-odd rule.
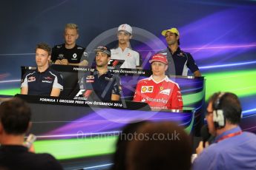
[[[47,68],[45,72],[39,72],[38,69],[26,72],[22,78],[22,86],[27,86],[27,95],[47,95],[53,87],[63,89],[63,80],[59,72]]]

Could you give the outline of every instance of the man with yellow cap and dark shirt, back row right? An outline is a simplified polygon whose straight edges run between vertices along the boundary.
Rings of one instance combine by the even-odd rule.
[[[194,62],[194,58],[188,52],[180,50],[180,33],[177,28],[163,30],[168,47],[160,53],[166,55],[168,59],[168,69],[166,75],[188,75],[188,69],[193,72],[195,77],[200,77],[201,73]]]

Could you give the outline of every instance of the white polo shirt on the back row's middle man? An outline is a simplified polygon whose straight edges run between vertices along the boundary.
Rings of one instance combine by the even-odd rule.
[[[125,48],[124,51],[120,47],[111,50],[111,59],[125,60],[120,68],[136,69],[140,66],[140,54],[130,48]]]

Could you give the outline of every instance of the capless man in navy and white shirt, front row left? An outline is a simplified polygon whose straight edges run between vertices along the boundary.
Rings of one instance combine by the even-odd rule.
[[[22,95],[59,96],[63,89],[63,80],[59,72],[49,67],[50,46],[45,43],[36,46],[36,70],[23,75]]]

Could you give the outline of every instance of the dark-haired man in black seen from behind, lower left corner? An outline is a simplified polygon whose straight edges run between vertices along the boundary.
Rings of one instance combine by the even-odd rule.
[[[24,135],[31,126],[30,107],[20,98],[0,105],[0,169],[48,169],[62,166],[50,154],[35,154],[24,146]]]

